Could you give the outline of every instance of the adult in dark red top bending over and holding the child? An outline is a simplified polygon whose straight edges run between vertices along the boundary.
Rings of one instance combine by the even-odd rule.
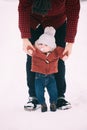
[[[46,26],[56,29],[55,39],[57,46],[63,47],[63,54],[68,58],[72,51],[77,32],[77,24],[80,11],[79,0],[19,0],[19,29],[23,39],[23,50],[27,54],[27,85],[29,87],[29,101],[24,106],[26,109],[37,109],[38,100],[35,94],[35,73],[31,72],[31,51],[34,43],[44,32]],[[71,104],[65,100],[66,81],[65,64],[63,60],[58,62],[58,73],[55,74],[58,99],[58,109],[68,109]]]

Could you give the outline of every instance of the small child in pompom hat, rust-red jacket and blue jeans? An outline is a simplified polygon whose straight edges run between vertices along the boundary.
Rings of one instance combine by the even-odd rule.
[[[47,111],[47,105],[44,97],[44,89],[50,96],[50,110],[56,111],[56,103],[58,97],[58,90],[56,87],[56,80],[54,73],[58,72],[58,59],[62,58],[62,47],[56,47],[55,43],[55,29],[53,27],[46,27],[44,34],[35,42],[35,50],[32,50],[32,65],[31,71],[35,74],[35,91],[36,97],[41,104],[41,111]],[[30,47],[27,48],[28,51]]]

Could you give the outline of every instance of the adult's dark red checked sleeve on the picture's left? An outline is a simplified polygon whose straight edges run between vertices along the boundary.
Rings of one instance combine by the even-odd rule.
[[[31,0],[19,0],[18,23],[22,38],[30,38]]]

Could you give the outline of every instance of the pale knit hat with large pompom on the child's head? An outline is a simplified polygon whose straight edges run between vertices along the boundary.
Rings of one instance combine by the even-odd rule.
[[[55,32],[56,30],[52,26],[47,26],[44,29],[44,33],[39,37],[39,39],[35,42],[36,44],[42,43],[51,47],[51,50],[56,48],[55,43]]]

